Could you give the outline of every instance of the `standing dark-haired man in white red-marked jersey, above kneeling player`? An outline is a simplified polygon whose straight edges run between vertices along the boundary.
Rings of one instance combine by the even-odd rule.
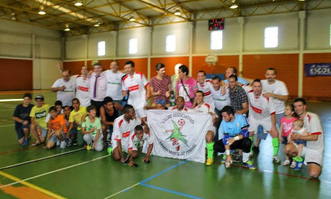
[[[147,115],[143,109],[146,106],[146,101],[150,98],[150,87],[148,81],[143,73],[134,72],[134,62],[126,61],[124,70],[128,75],[122,80],[123,97],[129,95],[128,104],[132,105],[137,112],[138,117],[144,122],[147,121]]]

